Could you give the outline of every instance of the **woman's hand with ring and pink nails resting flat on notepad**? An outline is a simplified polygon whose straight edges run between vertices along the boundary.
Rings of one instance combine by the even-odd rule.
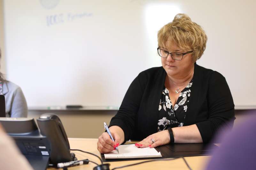
[[[144,138],[142,141],[136,143],[135,146],[141,147],[141,148],[145,148],[145,147],[154,148],[154,147],[165,145],[168,143],[170,143],[170,135],[168,130],[164,130],[164,131],[159,131],[157,133],[149,135],[147,138]]]

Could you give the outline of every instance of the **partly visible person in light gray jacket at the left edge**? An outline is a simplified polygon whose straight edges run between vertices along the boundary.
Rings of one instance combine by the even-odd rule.
[[[0,49],[1,59],[1,49]],[[6,117],[27,117],[27,102],[19,86],[4,79],[0,72],[0,95],[5,97]]]

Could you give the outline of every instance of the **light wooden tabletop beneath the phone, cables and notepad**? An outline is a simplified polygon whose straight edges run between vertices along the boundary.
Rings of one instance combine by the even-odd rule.
[[[80,149],[83,151],[94,153],[98,156],[100,156],[100,153],[97,150],[97,141],[98,139],[92,139],[92,138],[69,138],[70,148],[71,149]],[[100,164],[100,160],[90,154],[79,152],[79,151],[72,151],[75,153],[78,160],[81,159],[89,159],[92,160],[98,164]],[[194,156],[194,157],[185,157],[184,159],[187,161],[189,166],[193,170],[200,170],[204,169],[205,165],[209,161],[211,156]],[[117,161],[117,162],[108,162],[110,163],[110,169],[117,167],[117,166],[124,166],[128,164],[133,164],[137,162],[141,162],[144,160],[131,160],[131,161]],[[97,166],[94,163],[89,162],[87,165],[81,165],[81,166],[74,166],[69,167],[69,170],[78,170],[78,169],[93,169],[95,166]],[[49,168],[50,169],[50,168]],[[124,170],[128,169],[147,169],[147,170],[160,170],[160,169],[179,169],[179,170],[188,170],[189,168],[185,164],[184,160],[182,158],[175,159],[175,160],[167,160],[167,161],[154,161],[154,162],[148,162],[143,163],[135,166],[128,166],[125,168],[121,168]]]

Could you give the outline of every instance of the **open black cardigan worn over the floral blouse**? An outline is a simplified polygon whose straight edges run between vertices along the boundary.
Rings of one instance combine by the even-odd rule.
[[[124,131],[125,141],[142,140],[157,132],[158,108],[166,72],[153,67],[141,72],[128,88],[110,125]],[[143,102],[141,102],[143,101]],[[195,63],[191,97],[183,126],[196,124],[203,142],[209,142],[222,124],[234,123],[234,103],[225,78]]]

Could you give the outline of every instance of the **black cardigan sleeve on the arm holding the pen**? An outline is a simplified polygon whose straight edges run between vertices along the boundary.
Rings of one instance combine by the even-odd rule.
[[[146,77],[140,73],[129,86],[117,114],[112,117],[109,126],[117,125],[129,140],[136,128],[137,112],[144,93]],[[125,142],[124,141],[124,142]]]

